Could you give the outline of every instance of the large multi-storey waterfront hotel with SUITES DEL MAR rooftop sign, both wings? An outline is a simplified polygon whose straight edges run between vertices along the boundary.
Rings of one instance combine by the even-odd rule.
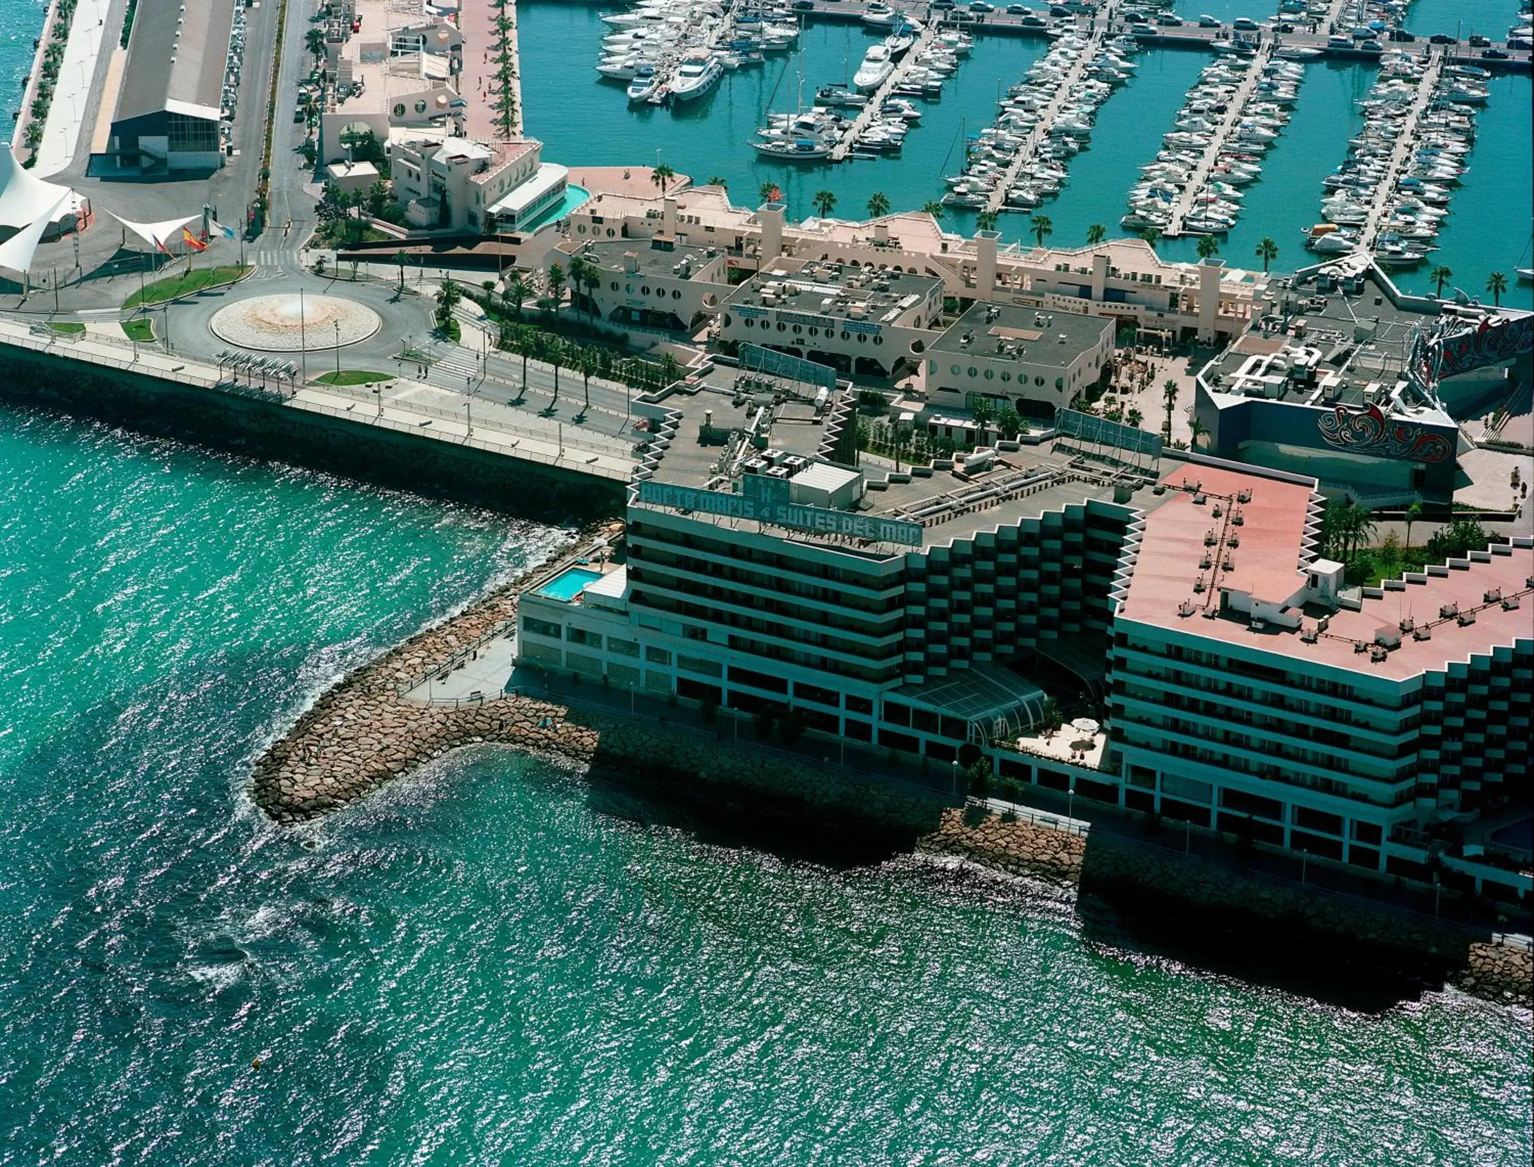
[[[1528,891],[1531,540],[1350,589],[1313,478],[1101,419],[890,472],[848,394],[638,408],[626,558],[529,587],[518,666]]]

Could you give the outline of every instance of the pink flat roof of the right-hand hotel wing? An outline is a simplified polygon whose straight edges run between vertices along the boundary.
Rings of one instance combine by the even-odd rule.
[[[1327,632],[1315,643],[1301,639],[1298,630],[1269,624],[1256,632],[1241,620],[1203,618],[1207,609],[1220,609],[1220,590],[1250,592],[1255,600],[1282,603],[1305,583],[1299,561],[1305,523],[1310,517],[1312,489],[1307,483],[1282,482],[1258,472],[1243,472],[1221,466],[1186,465],[1163,475],[1169,488],[1198,483],[1206,495],[1195,503],[1193,495],[1177,489],[1160,505],[1149,508],[1140,555],[1120,616],[1164,629],[1177,629],[1189,636],[1244,644],[1298,661],[1313,661],[1333,669],[1370,673],[1388,679],[1407,679],[1442,669],[1448,661],[1463,661],[1473,653],[1488,653],[1494,646],[1514,639],[1534,639],[1534,549],[1503,547],[1511,554],[1493,554],[1490,563],[1471,561],[1467,567],[1451,567],[1448,575],[1428,575],[1425,583],[1408,583],[1405,590],[1385,592],[1382,598],[1364,600],[1362,610],[1338,609],[1327,623]],[[1232,549],[1232,570],[1216,566],[1200,569],[1200,560],[1215,547],[1206,547],[1204,535],[1216,534],[1229,517],[1238,492],[1250,491],[1250,501],[1239,506],[1243,524],[1226,528],[1239,535]],[[1215,506],[1223,511],[1213,517]],[[1193,583],[1204,577],[1206,589],[1193,592]],[[1519,607],[1503,609],[1500,601],[1488,603],[1488,592],[1500,590],[1502,600],[1517,598]],[[1192,601],[1193,615],[1180,607]],[[1473,624],[1457,618],[1440,618],[1445,604],[1457,604],[1459,612],[1476,612]],[[1417,627],[1431,623],[1431,638],[1417,641],[1411,632],[1401,635],[1401,646],[1384,661],[1373,661],[1368,652],[1355,650],[1355,641],[1373,643],[1382,627],[1399,629],[1411,616]],[[1304,626],[1315,627],[1307,616]]]

